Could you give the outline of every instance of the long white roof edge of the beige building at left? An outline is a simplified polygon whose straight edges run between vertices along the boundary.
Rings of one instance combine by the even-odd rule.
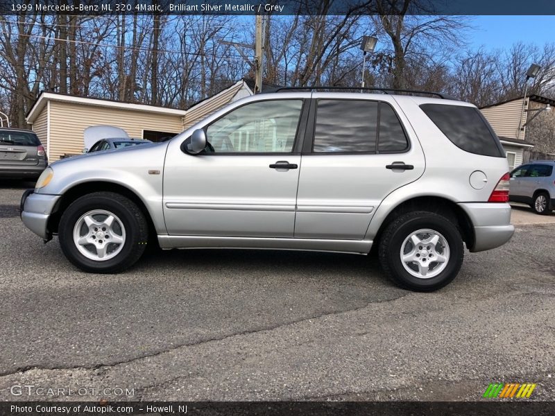
[[[123,101],[105,100],[102,98],[89,98],[75,96],[71,94],[61,94],[59,92],[45,92],[42,91],[31,110],[28,111],[26,119],[27,123],[32,124],[37,116],[40,114],[48,101],[58,101],[62,103],[75,103],[82,105],[94,105],[97,107],[111,107],[121,110],[134,110],[144,112],[154,112],[160,114],[170,114],[174,116],[185,116],[185,110],[178,110],[176,108],[158,107],[157,105],[125,103]]]

